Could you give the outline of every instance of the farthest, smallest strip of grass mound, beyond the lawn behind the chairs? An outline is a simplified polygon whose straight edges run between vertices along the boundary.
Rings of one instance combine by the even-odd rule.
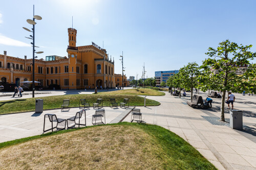
[[[136,88],[117,91],[100,92],[100,94],[131,94],[131,95],[165,95],[164,92],[149,88]]]

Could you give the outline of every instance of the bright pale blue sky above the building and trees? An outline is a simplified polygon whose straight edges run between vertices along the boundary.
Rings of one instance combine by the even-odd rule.
[[[27,19],[42,17],[35,25],[38,58],[67,56],[68,28],[77,30],[77,46],[103,47],[115,59],[115,73],[129,78],[154,77],[155,71],[175,70],[208,58],[208,47],[226,39],[252,44],[256,52],[256,1],[122,1],[44,0],[2,1],[0,6],[0,54],[32,58],[31,29]],[[253,63],[256,60],[251,61]]]

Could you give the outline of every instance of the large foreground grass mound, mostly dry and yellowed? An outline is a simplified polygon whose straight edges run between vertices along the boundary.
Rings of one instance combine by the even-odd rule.
[[[156,125],[119,123],[0,143],[1,169],[217,169]]]

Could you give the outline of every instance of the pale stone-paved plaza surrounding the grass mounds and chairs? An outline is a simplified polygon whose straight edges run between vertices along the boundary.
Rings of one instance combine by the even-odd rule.
[[[59,92],[60,93],[60,92]],[[77,93],[77,92],[76,92]],[[92,92],[90,92],[92,93]],[[243,110],[244,130],[233,130],[228,124],[218,121],[221,99],[213,99],[211,109],[193,109],[186,104],[189,95],[147,96],[147,99],[161,103],[155,107],[136,107],[142,112],[143,122],[162,126],[176,133],[193,145],[205,158],[218,169],[255,169],[256,168],[256,96],[236,94],[234,109]],[[38,94],[39,95],[39,94]],[[44,94],[46,95],[46,94]],[[201,93],[203,99],[206,93]],[[0,97],[2,100],[4,97]],[[133,108],[133,107],[130,107]],[[104,107],[106,123],[113,123],[124,117],[129,110]],[[79,111],[60,112],[60,109],[47,110],[43,113],[18,113],[0,115],[0,142],[42,134],[44,115],[54,113],[59,118],[69,118]],[[87,126],[92,125],[93,108],[86,111]],[[225,118],[229,121],[229,110],[225,108]],[[82,119],[81,121],[84,121]],[[130,122],[131,114],[123,122]],[[50,124],[47,125],[48,127]]]

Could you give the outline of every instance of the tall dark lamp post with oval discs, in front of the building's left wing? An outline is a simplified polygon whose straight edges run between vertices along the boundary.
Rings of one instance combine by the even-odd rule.
[[[32,64],[32,66],[33,66],[32,67],[33,68],[33,70],[32,70],[32,81],[33,81],[32,82],[32,91],[33,92],[32,92],[32,98],[35,97],[35,53],[36,54],[44,53],[44,52],[35,52],[35,47],[38,47],[38,46],[35,46],[35,25],[36,25],[35,19],[41,20],[42,17],[40,17],[39,15],[35,15],[35,10],[34,9],[35,9],[35,6],[33,5],[33,20],[32,19],[27,19],[27,22],[30,25],[33,25],[33,28],[32,28],[33,31],[23,27],[24,30],[26,30],[28,32],[33,32],[33,36],[30,35],[31,38],[30,37],[26,37],[28,39],[32,39],[33,40],[33,42],[31,42],[31,44],[33,45],[33,64]]]

